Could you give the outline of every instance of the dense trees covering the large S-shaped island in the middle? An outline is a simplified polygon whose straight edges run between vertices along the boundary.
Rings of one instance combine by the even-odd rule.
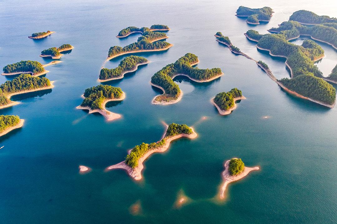
[[[207,80],[221,74],[220,68],[199,69],[191,67],[191,64],[196,62],[198,62],[198,57],[195,54],[187,53],[175,63],[166,65],[152,76],[151,82],[165,90],[165,95],[159,96],[161,100],[170,101],[177,99],[179,96],[179,86],[172,80],[172,77],[176,74],[186,74],[197,80]],[[163,97],[164,99],[162,99]]]

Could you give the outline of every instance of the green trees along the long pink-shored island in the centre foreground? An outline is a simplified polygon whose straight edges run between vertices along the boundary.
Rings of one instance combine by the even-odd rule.
[[[151,144],[146,144],[143,142],[140,145],[136,145],[131,150],[130,154],[126,156],[125,163],[129,165],[132,169],[134,169],[136,166],[138,166],[139,158],[141,158],[146,152],[165,145],[166,143],[165,140],[167,138],[180,135],[180,134],[186,134],[186,135],[192,134],[192,129],[188,127],[186,124],[180,125],[180,124],[172,123],[168,125],[166,135],[161,141],[153,142]]]

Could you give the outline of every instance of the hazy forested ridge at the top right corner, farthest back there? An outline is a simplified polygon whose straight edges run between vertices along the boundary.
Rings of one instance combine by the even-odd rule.
[[[298,10],[294,12],[289,20],[294,20],[304,24],[322,24],[322,23],[337,23],[337,18],[327,15],[317,15],[314,12],[307,10]]]

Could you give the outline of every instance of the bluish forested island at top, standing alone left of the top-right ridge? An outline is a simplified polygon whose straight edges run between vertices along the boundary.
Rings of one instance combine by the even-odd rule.
[[[248,8],[240,6],[236,11],[236,16],[247,17],[246,23],[254,25],[260,24],[259,21],[269,22],[272,14],[273,9],[270,7]]]

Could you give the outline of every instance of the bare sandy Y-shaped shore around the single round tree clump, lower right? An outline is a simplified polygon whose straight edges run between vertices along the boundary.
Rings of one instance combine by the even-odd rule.
[[[237,159],[237,158],[233,158],[233,159]],[[247,176],[251,171],[254,170],[259,170],[260,167],[255,166],[255,167],[247,167],[245,166],[243,172],[241,174],[232,176],[231,174],[229,174],[229,161],[231,161],[230,159],[225,161],[224,163],[224,168],[225,170],[222,172],[221,177],[222,177],[222,183],[219,189],[219,198],[220,199],[224,199],[225,198],[225,191],[226,191],[226,187],[229,183],[232,183],[234,181],[238,181],[242,178],[244,178],[245,176]]]

